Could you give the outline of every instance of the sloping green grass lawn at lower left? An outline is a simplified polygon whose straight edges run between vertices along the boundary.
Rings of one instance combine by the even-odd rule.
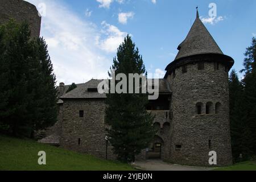
[[[46,152],[47,165],[38,164],[38,152]],[[112,162],[40,144],[34,140],[17,139],[0,135],[0,171],[1,170],[57,170],[57,171],[130,171],[129,164]]]

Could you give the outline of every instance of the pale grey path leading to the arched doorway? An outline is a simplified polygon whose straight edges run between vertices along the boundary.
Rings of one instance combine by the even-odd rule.
[[[209,171],[210,168],[205,167],[191,167],[191,166],[181,166],[177,164],[168,164],[162,160],[146,160],[138,161],[133,164],[145,171]]]

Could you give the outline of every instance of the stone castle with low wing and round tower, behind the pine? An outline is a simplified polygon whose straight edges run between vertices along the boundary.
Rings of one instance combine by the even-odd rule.
[[[209,166],[209,151],[216,151],[217,166],[228,166],[232,164],[228,72],[234,60],[222,53],[198,11],[177,49],[175,60],[167,65],[164,78],[159,79],[158,100],[147,106],[148,112],[155,115],[152,127],[158,133],[136,158]],[[58,121],[47,129],[47,137],[40,142],[115,159],[106,140],[106,96],[97,92],[100,82],[77,84],[68,93],[68,85],[61,83]]]

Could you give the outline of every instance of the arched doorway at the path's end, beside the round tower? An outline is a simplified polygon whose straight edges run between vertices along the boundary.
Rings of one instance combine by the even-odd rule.
[[[161,159],[163,146],[163,139],[158,135],[155,135],[148,148],[147,159]]]

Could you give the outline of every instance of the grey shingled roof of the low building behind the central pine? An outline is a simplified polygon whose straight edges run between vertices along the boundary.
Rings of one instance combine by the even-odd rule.
[[[85,84],[77,84],[77,88],[71,90],[60,97],[59,104],[63,103],[61,100],[71,99],[71,98],[106,98],[106,94],[100,94],[96,92],[89,92],[88,89],[97,89],[98,84],[100,84],[102,80],[90,80]],[[148,80],[151,84],[151,79]],[[154,81],[152,81],[154,85]],[[165,79],[159,79],[159,93],[171,93],[170,86]]]

